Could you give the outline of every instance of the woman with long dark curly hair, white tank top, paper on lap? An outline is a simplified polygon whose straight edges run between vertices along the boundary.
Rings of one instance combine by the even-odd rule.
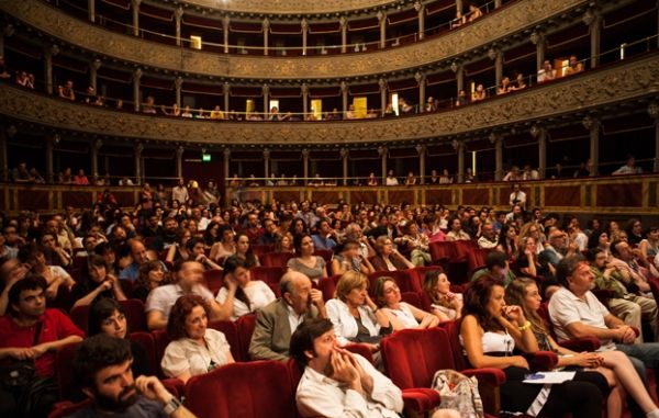
[[[503,283],[485,275],[473,281],[465,292],[460,321],[460,340],[474,368],[502,369],[506,382],[501,386],[504,411],[530,416],[560,417],[571,413],[580,418],[602,417],[602,389],[607,385],[568,381],[559,385],[524,383],[529,373],[526,359],[513,355],[538,351],[538,343],[520,306],[506,306]],[[602,387],[601,387],[602,386]]]

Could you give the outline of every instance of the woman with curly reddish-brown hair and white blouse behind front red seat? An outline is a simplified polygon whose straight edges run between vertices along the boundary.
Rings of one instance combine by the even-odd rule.
[[[208,328],[208,321],[201,296],[189,294],[176,301],[167,323],[171,342],[160,362],[165,375],[186,383],[192,376],[234,362],[226,337]]]

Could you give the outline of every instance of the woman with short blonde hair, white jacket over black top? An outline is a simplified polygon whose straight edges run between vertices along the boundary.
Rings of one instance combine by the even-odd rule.
[[[325,304],[339,346],[361,342],[379,350],[380,339],[390,331],[387,314],[368,295],[368,278],[356,271],[344,273],[336,283],[336,297]]]

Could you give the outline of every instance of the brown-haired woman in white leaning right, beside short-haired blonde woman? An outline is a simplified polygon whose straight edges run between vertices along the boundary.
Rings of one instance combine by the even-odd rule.
[[[402,302],[401,290],[393,278],[381,276],[373,283],[373,296],[389,317],[394,331],[406,328],[431,328],[439,324],[435,315]]]

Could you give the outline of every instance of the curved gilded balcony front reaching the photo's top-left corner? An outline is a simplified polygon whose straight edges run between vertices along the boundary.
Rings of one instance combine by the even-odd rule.
[[[437,63],[488,45],[552,16],[584,0],[520,0],[460,31],[404,47],[362,55],[256,57],[210,54],[146,42],[72,18],[40,0],[0,1],[0,10],[51,36],[101,56],[141,66],[241,79],[327,79],[372,76]]]

